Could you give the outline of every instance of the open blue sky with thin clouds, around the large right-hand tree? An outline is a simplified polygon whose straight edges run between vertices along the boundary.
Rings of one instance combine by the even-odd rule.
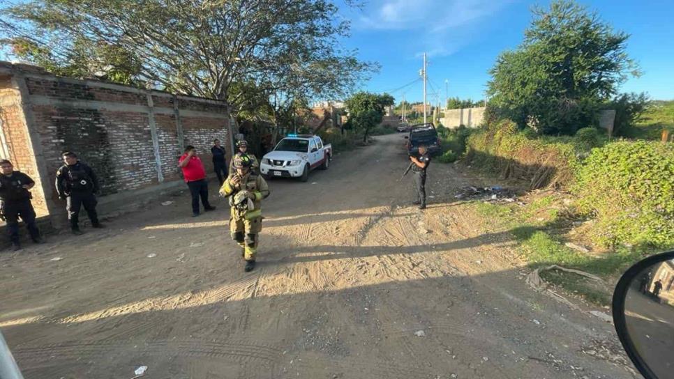
[[[370,0],[362,10],[342,6],[352,22],[343,42],[359,50],[359,58],[377,61],[379,73],[362,89],[390,91],[419,77],[421,53],[428,53],[428,78],[444,102],[449,96],[484,98],[487,71],[504,49],[517,47],[532,20],[534,4],[516,0]],[[616,30],[631,34],[627,51],[644,72],[626,82],[623,92],[646,92],[653,99],[674,99],[674,1],[581,1],[597,10]],[[431,86],[428,90],[433,91]],[[408,101],[421,101],[421,82],[403,92]],[[435,97],[429,101],[435,102]]]

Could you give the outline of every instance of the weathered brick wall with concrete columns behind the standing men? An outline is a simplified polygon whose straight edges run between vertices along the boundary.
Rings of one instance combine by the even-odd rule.
[[[46,195],[33,202],[50,213],[63,208],[53,183],[65,150],[96,171],[101,198],[112,199],[182,180],[183,146],[194,145],[212,172],[213,140],[227,141],[220,102],[59,78],[6,62],[0,62],[0,116],[10,160],[33,178],[41,172],[48,183]]]

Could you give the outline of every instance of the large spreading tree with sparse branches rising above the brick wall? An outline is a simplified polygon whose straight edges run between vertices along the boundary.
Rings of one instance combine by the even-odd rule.
[[[350,24],[331,0],[27,0],[0,15],[14,54],[57,75],[103,67],[109,79],[223,100],[234,113],[262,93],[268,104],[255,116],[274,120],[377,68],[340,47]]]

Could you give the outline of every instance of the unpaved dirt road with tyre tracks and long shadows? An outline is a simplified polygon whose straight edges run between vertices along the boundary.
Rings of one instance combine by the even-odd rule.
[[[402,143],[271,180],[250,273],[225,202],[193,219],[187,192],[1,253],[0,326],[24,376],[634,378],[610,324],[527,288],[510,234],[453,202],[467,173],[433,164],[429,208],[409,205]]]

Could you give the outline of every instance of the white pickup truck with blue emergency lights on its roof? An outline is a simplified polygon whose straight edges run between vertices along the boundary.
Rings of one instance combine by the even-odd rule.
[[[309,171],[316,167],[327,170],[331,159],[332,146],[324,145],[321,137],[288,134],[262,157],[260,172],[267,178],[301,178],[306,182]]]

